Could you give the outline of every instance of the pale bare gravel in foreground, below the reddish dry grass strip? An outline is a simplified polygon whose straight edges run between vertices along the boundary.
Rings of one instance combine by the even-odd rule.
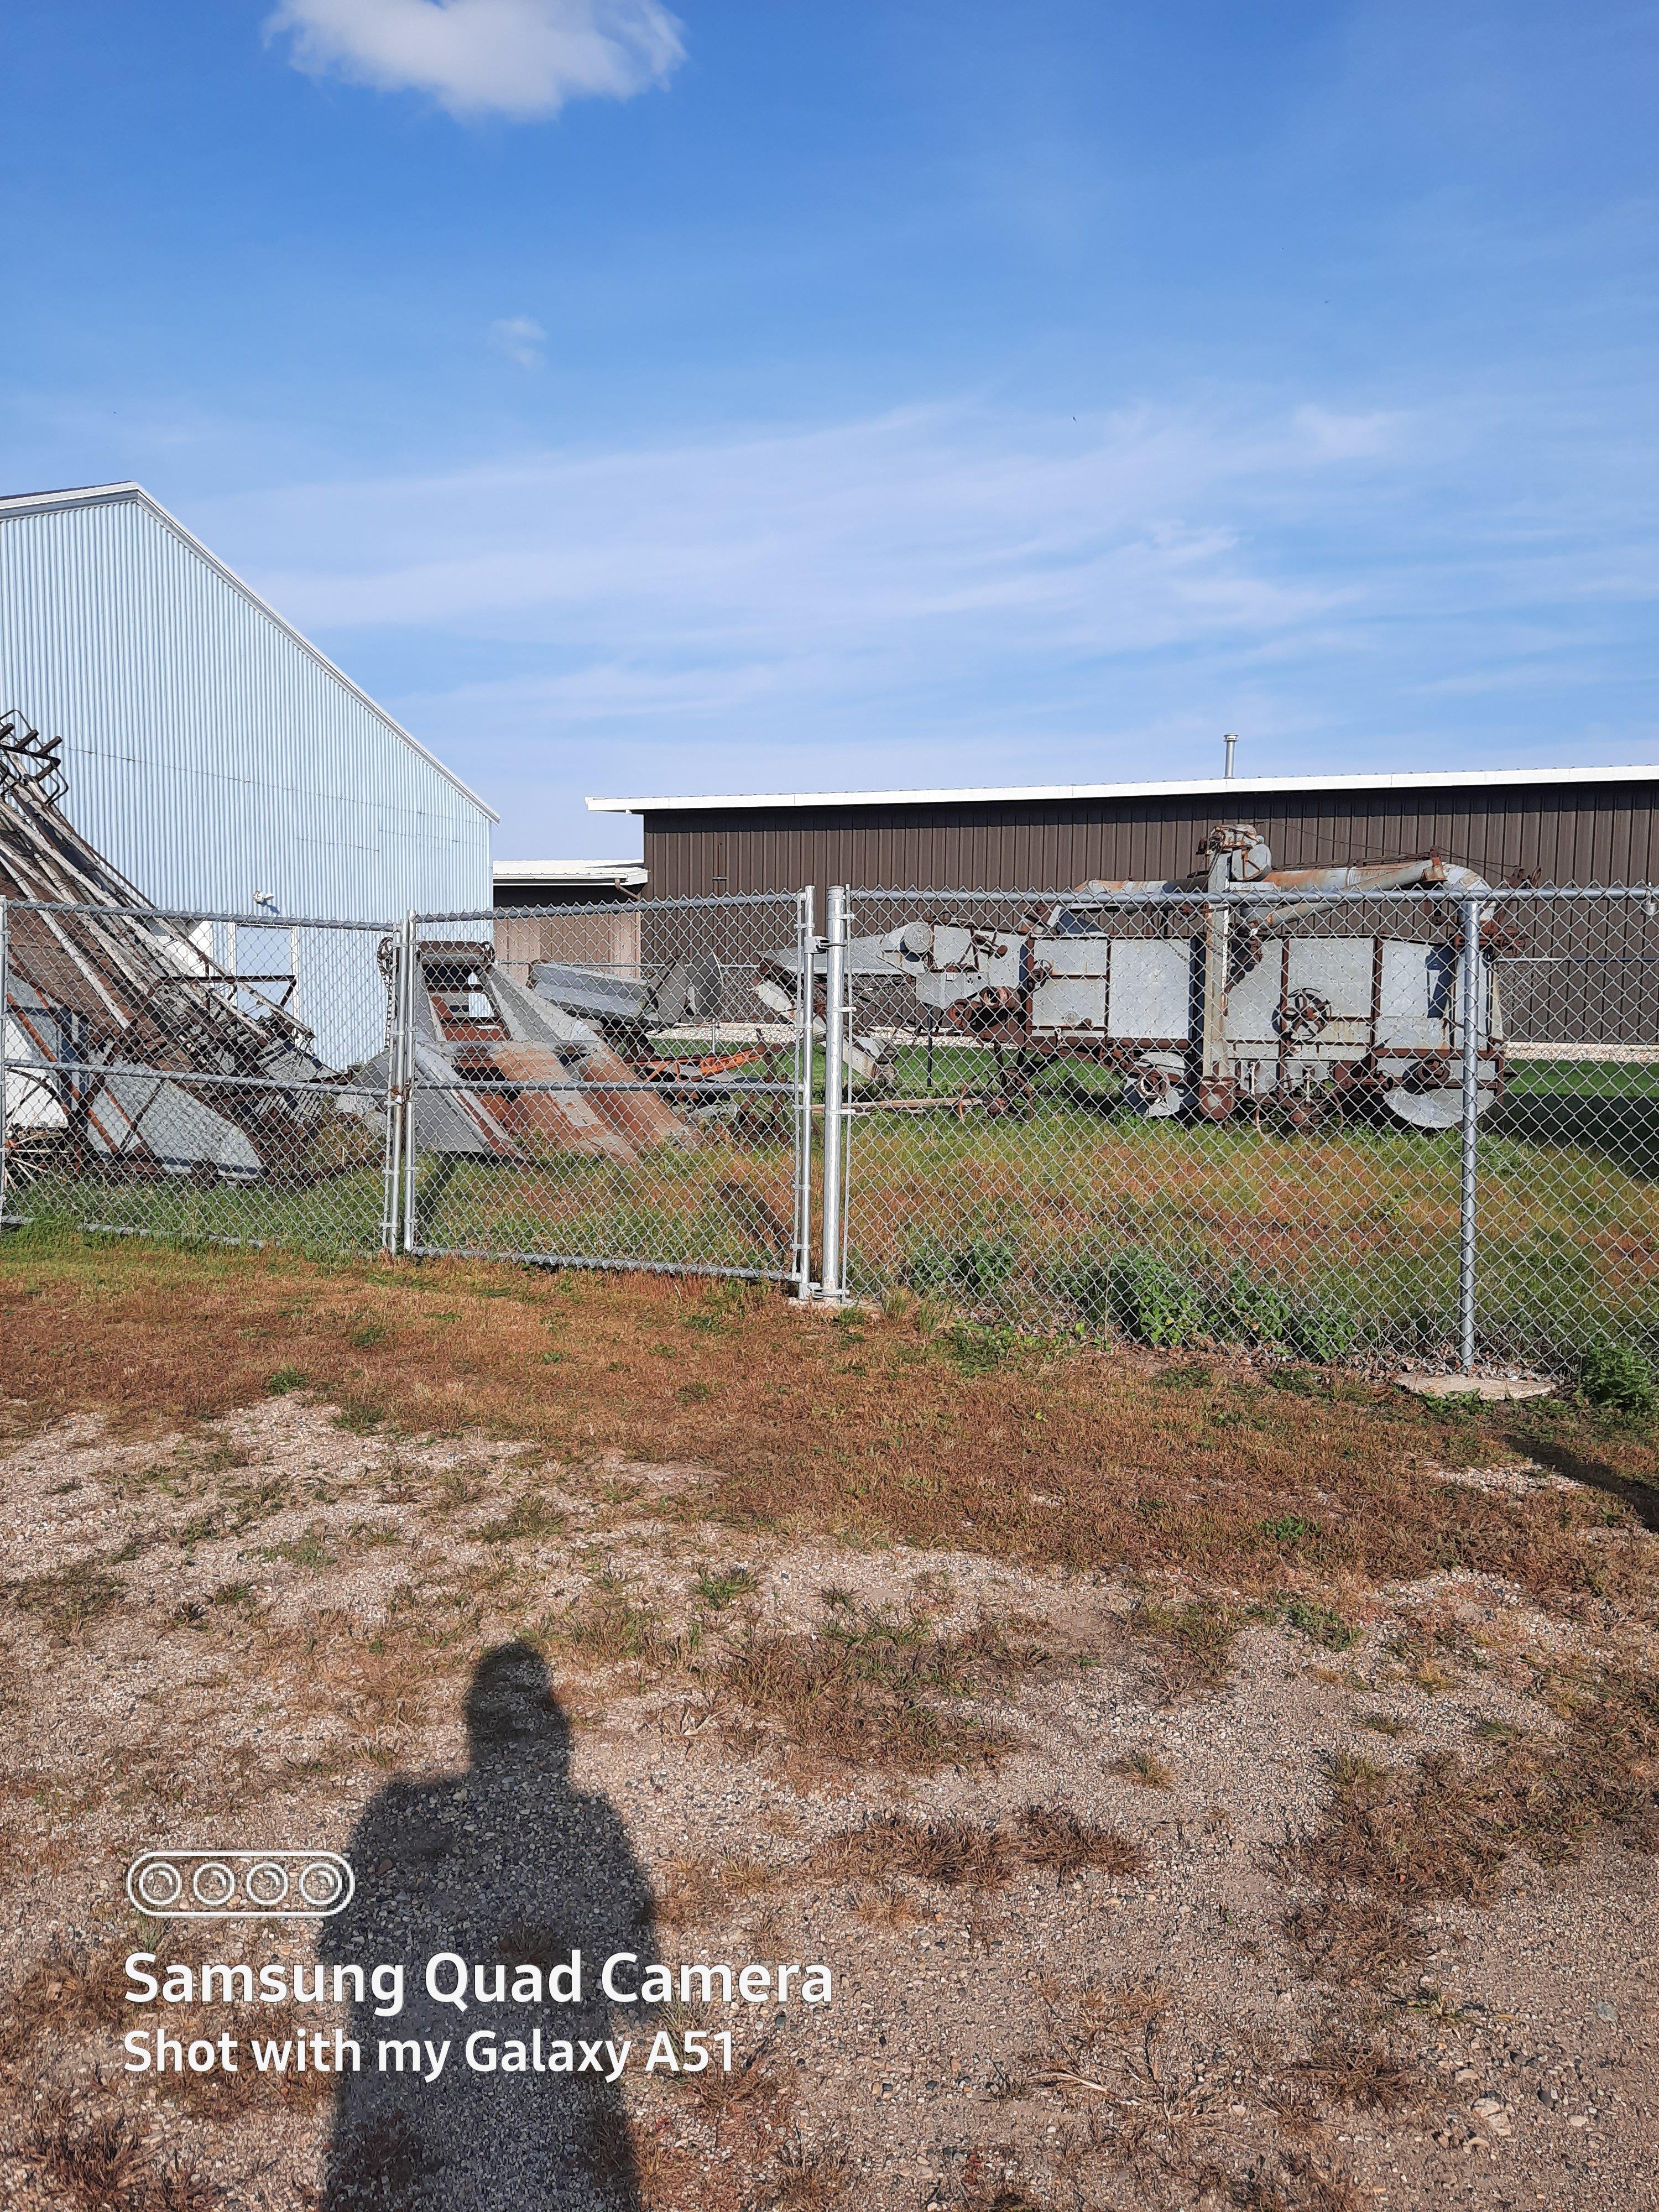
[[[1274,1854],[1316,1820],[1334,1756],[1471,1759],[1555,1725],[1537,1663],[1588,1630],[1500,1584],[1343,1593],[1345,1648],[1256,1621],[1217,1690],[1172,1699],[1128,1577],[737,1537],[699,1517],[697,1469],[356,1436],[301,1394],[188,1438],[75,1420],[0,1480],[7,2201],[1655,2203],[1650,1858],[1606,1840],[1564,1867],[1515,1858],[1484,1902],[1427,1907],[1418,1955],[1371,1993],[1321,1982],[1285,1929]],[[847,1761],[757,1719],[717,1666],[872,1613],[998,1630],[971,1694],[942,1692],[1004,1739],[993,1756]],[[1597,1635],[1639,1650],[1635,1628]],[[978,1885],[834,1865],[872,1816],[1013,1836],[1031,1805],[1124,1838],[1135,1871],[1018,1851]],[[358,1891],[321,1929],[161,1929],[122,1889],[159,1845],[330,1847]],[[394,2022],[367,2000],[175,2022],[124,2000],[133,1949],[403,1960],[409,1991]],[[588,1973],[580,2006],[462,2017],[418,1986],[436,1951],[549,1966],[573,1949],[816,1962],[832,1995],[803,2004],[796,1975],[783,2002],[641,2017]],[[336,2026],[365,2053],[458,2046],[487,2024],[633,2048],[617,2081],[469,2073],[453,2048],[420,2086],[276,2084],[243,2055],[234,2079],[157,2090],[122,2064],[135,2020],[243,2046]],[[644,2073],[657,2031],[688,2026],[730,2033],[730,2075]],[[1358,2101],[1318,2057],[1343,2035],[1383,2037],[1394,2068]]]

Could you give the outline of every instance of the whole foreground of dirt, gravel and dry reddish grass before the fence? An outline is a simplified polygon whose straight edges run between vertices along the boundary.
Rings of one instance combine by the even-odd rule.
[[[1655,1540],[1624,1504],[1447,1482],[1513,1442],[1453,1455],[1358,1385],[964,1374],[914,1314],[774,1347],[741,1298],[495,1283],[0,1265],[11,2201],[467,2212],[551,2201],[535,2159],[648,2212],[1646,2201]],[[104,1327],[73,1374],[71,1323]],[[646,1394],[639,1329],[714,1396]],[[1281,1402],[1267,1442],[1203,1418]],[[349,1851],[352,1913],[124,1900],[144,1847],[272,1840]],[[608,2095],[122,2073],[131,1949],[544,1973],[573,1929],[675,1973],[823,1960],[834,2002],[617,2006],[728,2031],[732,2070]],[[394,2033],[349,1989],[199,1997],[168,2033]]]

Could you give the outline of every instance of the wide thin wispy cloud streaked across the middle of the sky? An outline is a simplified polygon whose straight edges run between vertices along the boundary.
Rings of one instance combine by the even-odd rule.
[[[1321,507],[1376,467],[1338,416],[993,409],[316,487],[261,515],[263,580],[301,624],[449,626],[630,670],[710,664],[863,690],[878,670],[1263,641],[1338,608],[1252,542],[1261,484]],[[1367,449],[1367,460],[1345,447]],[[263,502],[261,502],[263,507]],[[301,520],[303,518],[303,520]],[[312,564],[319,549],[323,560]],[[628,690],[628,686],[624,686]]]

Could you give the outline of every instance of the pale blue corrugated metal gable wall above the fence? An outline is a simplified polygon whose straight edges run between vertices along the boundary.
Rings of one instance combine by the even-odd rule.
[[[0,518],[0,706],[161,905],[491,905],[484,812],[133,498]]]

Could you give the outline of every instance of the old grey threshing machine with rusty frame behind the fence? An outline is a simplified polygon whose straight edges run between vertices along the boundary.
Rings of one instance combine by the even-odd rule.
[[[1044,1062],[1095,1062],[1126,1077],[1148,1119],[1225,1121],[1272,1110],[1292,1128],[1385,1110],[1416,1128],[1462,1117],[1462,978],[1475,973],[1475,1108],[1504,1077],[1491,905],[1464,947],[1473,869],[1440,860],[1276,869],[1250,823],[1210,832],[1188,883],[1084,883],[1015,927],[909,920],[847,947],[860,1073],[880,1079],[905,1029],[880,1022],[883,978],[902,975],[933,1037],[998,1055],[998,1104]],[[1422,905],[1360,905],[1383,891]],[[1389,927],[1394,925],[1394,927]],[[792,978],[763,978],[763,1000]],[[770,998],[768,998],[770,993]]]

